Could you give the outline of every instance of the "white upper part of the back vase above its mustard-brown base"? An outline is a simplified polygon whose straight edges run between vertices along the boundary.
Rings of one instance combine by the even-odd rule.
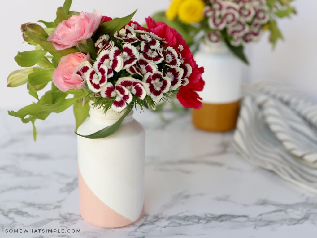
[[[195,59],[205,70],[204,90],[199,92],[204,103],[230,103],[240,99],[243,64],[226,45],[210,47],[203,43]]]

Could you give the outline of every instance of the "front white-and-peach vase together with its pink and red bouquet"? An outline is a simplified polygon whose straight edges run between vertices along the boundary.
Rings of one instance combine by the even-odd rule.
[[[15,60],[26,69],[12,72],[8,86],[27,83],[36,102],[9,115],[31,122],[35,140],[37,119],[73,105],[81,215],[97,226],[125,226],[143,213],[145,139],[133,107],[155,110],[176,94],[184,107],[200,108],[203,68],[165,23],[148,17],[145,28],[131,21],[135,12],[112,19],[70,11],[71,2],[57,9],[53,22],[40,20],[45,27],[22,25],[23,39],[35,49],[18,52]]]

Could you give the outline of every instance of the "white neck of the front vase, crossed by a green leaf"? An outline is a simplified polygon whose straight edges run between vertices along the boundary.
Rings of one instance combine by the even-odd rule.
[[[99,121],[101,123],[113,124],[121,118],[121,116],[123,115],[123,112],[118,113],[113,111],[112,109],[108,109],[107,112],[102,113],[102,108],[98,109],[98,108],[94,108],[93,106],[90,106],[89,115],[90,115],[90,119],[92,120]],[[131,111],[131,113],[129,113],[125,117],[122,123],[132,121],[133,120],[132,115],[133,115],[133,111]]]

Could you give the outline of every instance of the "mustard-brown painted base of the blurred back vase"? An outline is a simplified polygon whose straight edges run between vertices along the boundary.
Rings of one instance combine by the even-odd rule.
[[[240,101],[212,104],[203,103],[202,108],[192,111],[192,122],[198,129],[224,132],[236,128]]]

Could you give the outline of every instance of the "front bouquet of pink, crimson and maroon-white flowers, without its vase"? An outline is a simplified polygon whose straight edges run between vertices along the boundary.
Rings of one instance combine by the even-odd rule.
[[[71,0],[57,9],[52,22],[25,23],[23,39],[34,50],[18,52],[25,67],[12,72],[8,86],[27,84],[36,102],[9,115],[23,123],[44,120],[74,106],[76,129],[87,118],[89,106],[112,109],[120,119],[88,138],[111,135],[133,107],[155,110],[155,105],[177,95],[184,107],[200,108],[197,91],[204,87],[203,68],[197,66],[183,37],[162,22],[146,18],[147,27],[122,18],[70,11]],[[38,91],[49,89],[39,98]]]

